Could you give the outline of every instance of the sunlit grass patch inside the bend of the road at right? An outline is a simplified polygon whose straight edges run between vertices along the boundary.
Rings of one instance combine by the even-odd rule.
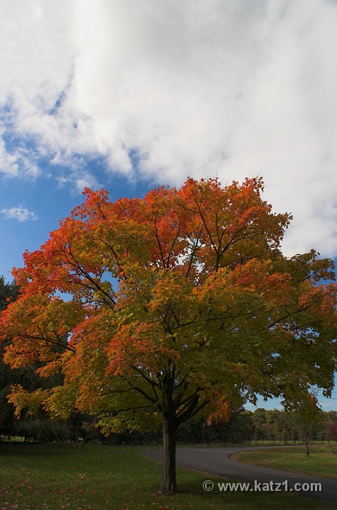
[[[337,448],[333,448],[337,451]],[[305,446],[275,450],[256,450],[232,455],[233,460],[272,467],[272,469],[300,472],[307,475],[334,478],[337,480],[337,454],[333,455],[329,446]]]

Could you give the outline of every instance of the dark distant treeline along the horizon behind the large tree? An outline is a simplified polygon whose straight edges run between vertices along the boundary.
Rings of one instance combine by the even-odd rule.
[[[1,402],[1,410],[9,406]],[[110,443],[110,444],[160,444],[158,431],[126,431],[101,434],[94,416],[74,412],[67,421],[50,420],[39,412],[36,416],[15,419],[13,413],[1,412],[1,438],[21,437],[34,442]],[[337,441],[337,412],[322,412],[314,424],[306,424],[296,412],[258,408],[255,412],[233,409],[226,423],[207,424],[194,418],[179,429],[178,443],[252,443],[272,441],[284,443]]]

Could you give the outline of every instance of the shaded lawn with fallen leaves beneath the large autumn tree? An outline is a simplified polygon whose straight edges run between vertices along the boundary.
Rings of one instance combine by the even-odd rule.
[[[163,496],[160,464],[143,447],[0,443],[0,510],[327,510],[336,506],[294,494],[204,492],[223,479],[177,470],[179,493]]]

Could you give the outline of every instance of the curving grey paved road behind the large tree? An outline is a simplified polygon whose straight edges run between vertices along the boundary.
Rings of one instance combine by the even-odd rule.
[[[275,448],[274,446],[264,448]],[[276,448],[289,448],[287,446],[280,446]],[[267,467],[258,467],[248,464],[236,462],[231,459],[233,453],[248,450],[258,450],[261,448],[254,446],[247,446],[245,448],[177,448],[177,465],[192,469],[195,471],[202,471],[210,475],[219,475],[229,478],[231,480],[242,480],[243,482],[250,482],[251,488],[255,487],[263,489],[263,484],[270,484],[270,482],[280,483],[280,488],[286,487],[285,481],[287,480],[287,490],[296,492],[302,496],[314,497],[317,499],[326,499],[328,501],[337,503],[337,480],[329,480],[328,478],[312,477],[309,475],[299,475],[298,473],[290,473],[284,471],[277,471],[268,469]],[[162,459],[162,451],[160,449],[147,450],[144,455],[154,458],[156,460]],[[211,480],[211,477],[209,477]],[[256,482],[255,482],[256,480]],[[320,483],[322,491],[316,492],[314,490],[301,490],[295,491],[294,485]],[[258,486],[260,484],[260,486]],[[303,489],[307,489],[308,485],[304,485]],[[266,487],[266,486],[265,486]],[[277,488],[272,485],[273,489]],[[299,486],[297,486],[299,487]],[[315,486],[314,486],[315,487]],[[217,489],[217,485],[214,490]],[[254,489],[253,489],[254,490]]]

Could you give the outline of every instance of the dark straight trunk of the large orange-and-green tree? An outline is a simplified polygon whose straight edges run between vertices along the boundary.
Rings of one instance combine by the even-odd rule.
[[[175,472],[175,448],[177,438],[177,424],[175,416],[164,416],[162,424],[162,494],[177,492],[177,477]]]

